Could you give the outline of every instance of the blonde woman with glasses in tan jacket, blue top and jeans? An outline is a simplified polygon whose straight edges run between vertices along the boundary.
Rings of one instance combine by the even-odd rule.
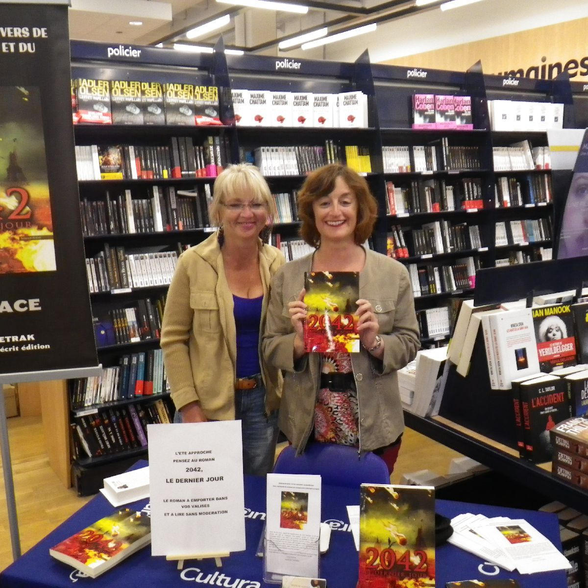
[[[273,465],[282,376],[260,360],[269,282],[285,263],[262,242],[272,195],[240,163],[216,178],[210,216],[218,231],[179,257],[163,314],[161,348],[175,422],[242,420],[243,470]]]

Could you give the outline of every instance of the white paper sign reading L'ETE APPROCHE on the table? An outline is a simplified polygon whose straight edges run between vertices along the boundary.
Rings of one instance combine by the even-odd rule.
[[[243,551],[240,420],[147,430],[152,555]]]

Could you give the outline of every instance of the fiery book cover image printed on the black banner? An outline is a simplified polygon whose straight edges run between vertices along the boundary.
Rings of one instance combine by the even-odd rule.
[[[0,104],[0,275],[54,272],[39,89],[0,86]]]

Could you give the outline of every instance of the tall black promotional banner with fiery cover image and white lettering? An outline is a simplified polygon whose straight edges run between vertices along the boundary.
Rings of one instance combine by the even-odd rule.
[[[96,366],[68,7],[0,4],[0,374]]]

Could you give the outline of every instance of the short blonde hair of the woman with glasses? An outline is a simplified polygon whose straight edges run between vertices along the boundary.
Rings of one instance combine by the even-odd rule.
[[[273,198],[268,182],[255,165],[236,163],[229,165],[215,180],[209,211],[212,223],[220,225],[220,207],[229,196],[240,198],[243,195],[252,195],[253,201],[263,202],[268,210],[268,218],[271,217]]]

